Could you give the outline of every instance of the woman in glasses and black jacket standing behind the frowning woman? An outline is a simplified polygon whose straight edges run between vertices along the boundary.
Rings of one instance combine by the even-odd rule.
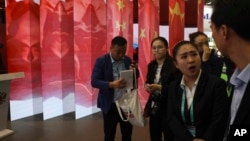
[[[154,38],[151,42],[151,50],[155,59],[148,64],[145,90],[150,95],[145,106],[147,111],[145,116],[150,117],[151,141],[162,141],[163,104],[166,103],[167,86],[175,79],[176,69],[168,54],[168,42],[164,37]]]

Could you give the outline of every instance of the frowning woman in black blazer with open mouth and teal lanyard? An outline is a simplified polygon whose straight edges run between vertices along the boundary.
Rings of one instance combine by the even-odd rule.
[[[197,47],[189,41],[175,45],[173,60],[183,76],[168,89],[168,139],[222,141],[229,107],[226,82],[201,70]]]

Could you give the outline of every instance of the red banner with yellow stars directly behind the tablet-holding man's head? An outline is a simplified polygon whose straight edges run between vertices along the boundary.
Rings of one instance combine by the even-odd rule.
[[[107,47],[113,37],[127,39],[127,55],[133,57],[133,1],[107,0]]]

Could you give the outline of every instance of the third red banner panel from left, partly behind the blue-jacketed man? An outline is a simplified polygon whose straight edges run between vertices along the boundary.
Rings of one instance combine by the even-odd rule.
[[[74,0],[76,119],[91,114],[96,105],[90,74],[96,58],[107,52],[106,25],[104,0]]]

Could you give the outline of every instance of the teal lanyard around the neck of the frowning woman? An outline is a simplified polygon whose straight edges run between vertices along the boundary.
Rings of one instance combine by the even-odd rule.
[[[185,118],[185,104],[186,104],[186,89],[184,88],[182,92],[182,99],[181,99],[181,117],[184,123],[186,122]],[[191,124],[194,124],[194,105],[193,102],[191,103],[190,107],[190,119],[191,119]]]

